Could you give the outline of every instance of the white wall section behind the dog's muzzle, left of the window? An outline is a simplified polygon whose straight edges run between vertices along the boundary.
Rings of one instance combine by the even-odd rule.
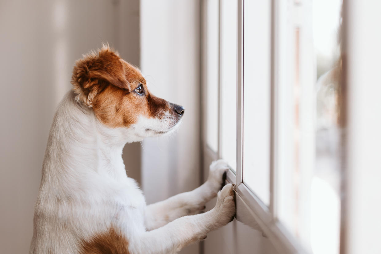
[[[147,203],[200,184],[200,3],[141,0],[141,67],[149,89],[185,108],[171,136],[142,142]],[[193,244],[181,253],[199,253]]]

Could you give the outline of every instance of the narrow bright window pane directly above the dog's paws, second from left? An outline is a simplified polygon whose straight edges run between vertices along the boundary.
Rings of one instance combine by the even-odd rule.
[[[222,158],[235,169],[237,129],[237,2],[221,1]]]

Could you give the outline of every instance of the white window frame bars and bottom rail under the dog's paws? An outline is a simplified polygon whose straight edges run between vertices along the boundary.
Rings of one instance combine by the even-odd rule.
[[[203,1],[203,20],[206,18],[206,8],[207,0]],[[311,253],[311,250],[306,249],[301,241],[298,240],[278,219],[277,219],[277,172],[276,172],[276,163],[277,163],[277,58],[278,58],[278,40],[277,40],[277,22],[278,17],[278,1],[271,0],[271,135],[270,135],[270,202],[269,206],[266,206],[258,196],[253,193],[244,183],[243,183],[243,8],[244,0],[237,1],[237,150],[236,150],[236,171],[235,173],[232,170],[229,170],[227,173],[226,181],[229,183],[234,183],[236,185],[236,198],[237,198],[237,220],[247,220],[247,214],[243,218],[240,211],[244,209],[249,209],[252,215],[252,225],[258,225],[257,229],[261,230],[264,235],[271,241],[273,246],[279,251],[279,253]],[[221,3],[219,1],[219,29],[221,29]],[[205,22],[204,22],[205,24]],[[207,40],[206,28],[202,27],[203,31],[203,43],[205,45]],[[221,30],[219,31],[219,54],[221,54]],[[202,54],[203,61],[203,83],[206,83],[206,61],[207,61],[207,52],[205,47],[203,47]],[[204,178],[207,175],[209,163],[213,160],[221,158],[221,61],[219,61],[219,123],[218,123],[218,151],[214,152],[210,149],[206,143],[205,133],[206,133],[206,119],[205,114],[203,118],[203,159],[204,159]],[[203,95],[203,110],[205,108],[207,96]],[[243,208],[245,206],[245,208]],[[246,222],[246,224],[250,224]]]

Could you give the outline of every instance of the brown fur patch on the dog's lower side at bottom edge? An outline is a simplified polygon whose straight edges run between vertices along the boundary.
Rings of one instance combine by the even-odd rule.
[[[129,254],[128,241],[114,227],[107,232],[93,236],[89,241],[82,241],[81,254]]]

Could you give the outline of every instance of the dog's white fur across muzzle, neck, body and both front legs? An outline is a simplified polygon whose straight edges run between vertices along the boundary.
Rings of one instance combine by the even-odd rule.
[[[50,130],[30,253],[78,253],[81,240],[111,225],[127,238],[131,254],[176,253],[227,224],[235,213],[232,185],[219,192],[211,211],[186,216],[217,194],[224,161],[211,165],[208,181],[199,188],[149,206],[126,176],[121,156],[126,142],[173,128],[169,120],[146,118],[130,128],[108,128],[91,108],[75,101],[73,91],[67,93]]]

